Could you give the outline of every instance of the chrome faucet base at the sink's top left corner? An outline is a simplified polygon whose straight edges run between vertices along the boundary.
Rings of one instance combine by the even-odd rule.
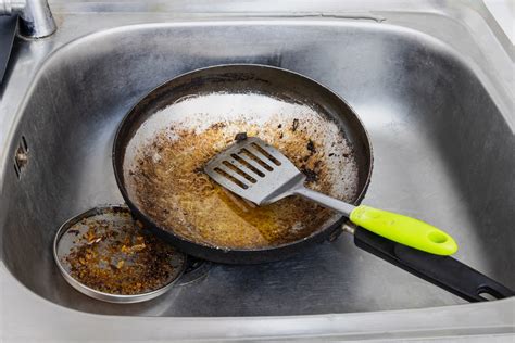
[[[16,14],[22,36],[42,38],[56,29],[47,0],[0,0],[0,15]]]

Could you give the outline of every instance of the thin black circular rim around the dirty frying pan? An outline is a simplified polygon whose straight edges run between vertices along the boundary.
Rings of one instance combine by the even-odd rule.
[[[217,247],[213,245],[203,244],[200,242],[190,241],[173,232],[173,230],[166,230],[165,228],[160,227],[158,224],[155,224],[155,221],[152,218],[145,215],[143,212],[136,205],[135,202],[133,202],[133,200],[128,195],[128,192],[125,186],[125,180],[123,177],[122,164],[123,164],[124,154],[125,154],[124,140],[127,138],[127,136],[130,136],[129,134],[130,130],[134,130],[133,122],[136,120],[135,112],[139,111],[140,107],[143,107],[148,105],[149,103],[152,103],[153,101],[155,101],[154,99],[156,97],[155,93],[159,91],[162,91],[163,89],[166,89],[167,87],[171,87],[169,85],[173,85],[174,82],[175,84],[180,82],[183,81],[184,78],[191,77],[200,73],[206,73],[206,72],[209,73],[212,71],[217,71],[217,69],[222,71],[222,69],[227,69],[227,68],[254,68],[254,69],[263,69],[265,72],[272,71],[274,73],[282,73],[285,75],[288,75],[289,77],[293,77],[303,82],[310,84],[314,90],[316,90],[317,92],[323,92],[325,97],[327,97],[325,99],[330,98],[335,103],[337,103],[337,106],[346,109],[348,113],[347,118],[353,122],[353,125],[356,126],[354,128],[354,134],[360,136],[361,141],[359,143],[363,145],[361,148],[366,150],[366,156],[364,157],[366,157],[367,160],[367,162],[365,163],[367,167],[365,168],[366,170],[364,169],[364,177],[363,177],[363,180],[361,181],[360,192],[354,201],[355,205],[361,203],[362,199],[365,196],[365,193],[367,191],[367,188],[369,186],[369,181],[372,178],[374,156],[373,156],[372,141],[368,136],[368,132],[366,131],[366,128],[363,122],[360,119],[360,117],[357,116],[356,112],[352,109],[352,106],[344,99],[342,99],[337,92],[332,91],[328,87],[322,85],[321,82],[307,76],[304,76],[302,74],[299,74],[289,69],[276,67],[276,66],[243,63],[243,64],[213,65],[213,66],[198,68],[194,71],[190,71],[190,72],[177,75],[176,77],[152,89],[141,99],[139,99],[139,101],[127,112],[127,114],[122,119],[121,124],[118,125],[118,128],[115,134],[115,139],[113,142],[113,150],[112,150],[112,163],[113,163],[113,169],[115,174],[116,183],[118,186],[118,189],[126,204],[129,206],[133,214],[139,220],[141,220],[146,225],[146,227],[148,227],[149,230],[151,230],[155,236],[162,238],[165,241],[168,241],[172,245],[177,246],[179,250],[186,252],[189,255],[208,259],[208,261],[212,261],[212,262],[217,262],[217,263],[256,264],[256,263],[279,261],[279,259],[284,259],[299,253],[301,250],[303,250],[304,247],[309,245],[312,245],[316,242],[322,242],[327,239],[330,239],[331,237],[335,237],[335,234],[338,234],[339,232],[341,232],[341,226],[348,220],[343,216],[340,216],[340,219],[335,220],[332,224],[327,225],[325,228],[310,234],[309,237],[305,237],[294,242],[289,242],[289,243],[280,244],[277,246],[264,247],[264,249],[239,250],[239,249]],[[128,141],[130,141],[130,139]]]

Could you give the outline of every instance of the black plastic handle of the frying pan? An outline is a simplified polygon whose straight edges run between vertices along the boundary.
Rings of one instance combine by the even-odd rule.
[[[356,246],[469,302],[504,298],[515,292],[450,256],[405,246],[363,228],[354,231]],[[481,296],[482,295],[482,296]],[[488,295],[487,295],[488,296]]]

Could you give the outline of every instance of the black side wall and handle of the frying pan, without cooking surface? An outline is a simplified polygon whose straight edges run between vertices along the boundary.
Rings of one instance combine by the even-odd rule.
[[[133,214],[155,234],[181,251],[204,259],[227,264],[256,264],[287,258],[305,247],[341,232],[347,218],[335,214],[318,230],[293,242],[260,249],[219,249],[176,234],[156,225],[129,196],[125,180],[126,150],[143,123],[168,105],[199,94],[259,93],[292,103],[307,104],[336,123],[353,148],[357,165],[357,192],[351,200],[359,204],[372,176],[373,155],[367,132],[354,111],[336,93],[302,75],[263,65],[222,65],[178,76],[146,96],[125,116],[116,132],[113,165],[116,182]],[[165,124],[163,124],[165,125]],[[430,281],[467,301],[485,301],[481,294],[495,298],[514,295],[504,285],[489,279],[452,257],[437,256],[394,243],[361,228],[343,226],[354,233],[356,246]]]

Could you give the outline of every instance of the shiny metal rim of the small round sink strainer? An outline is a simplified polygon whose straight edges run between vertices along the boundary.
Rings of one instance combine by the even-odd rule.
[[[138,293],[138,294],[113,294],[113,293],[106,293],[106,292],[101,292],[98,290],[95,290],[90,287],[87,287],[86,284],[81,283],[77,279],[73,278],[70,272],[64,268],[62,265],[59,254],[58,254],[58,249],[59,249],[59,243],[61,241],[61,238],[64,236],[65,232],[67,232],[78,221],[83,220],[84,218],[91,217],[95,215],[99,215],[102,213],[106,213],[108,211],[112,211],[113,213],[115,212],[123,212],[123,213],[128,213],[130,214],[130,209],[125,206],[125,205],[104,205],[104,206],[97,206],[91,209],[88,209],[86,212],[80,213],[79,215],[71,217],[68,220],[66,220],[61,227],[59,228],[58,232],[55,233],[55,238],[53,240],[53,259],[55,264],[58,265],[58,268],[63,276],[63,278],[66,280],[66,282],[70,283],[75,290],[79,291],[80,293],[88,295],[90,297],[93,297],[96,300],[100,300],[103,302],[108,303],[116,303],[116,304],[134,304],[134,303],[141,303],[146,302],[149,300],[152,300],[154,297],[158,297],[164,293],[166,293],[169,289],[173,288],[173,285],[177,282],[178,279],[180,279],[180,276],[184,274],[187,265],[187,255],[176,251],[177,254],[180,254],[183,258],[183,263],[180,265],[180,269],[176,275],[168,281],[166,282],[163,287],[150,291],[150,292],[145,292],[145,293]]]

